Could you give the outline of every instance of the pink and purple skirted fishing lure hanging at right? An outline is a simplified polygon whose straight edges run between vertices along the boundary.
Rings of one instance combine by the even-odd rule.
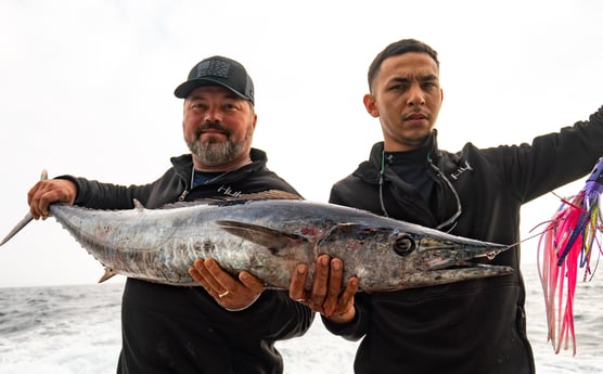
[[[562,198],[559,210],[546,222],[538,243],[538,274],[544,294],[548,339],[555,353],[572,343],[576,354],[574,295],[578,275],[590,281],[602,254],[603,157],[594,166],[582,190]]]

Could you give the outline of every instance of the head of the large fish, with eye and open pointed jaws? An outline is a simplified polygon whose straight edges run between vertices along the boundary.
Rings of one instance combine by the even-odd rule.
[[[397,291],[509,274],[510,267],[477,263],[510,246],[482,242],[405,222],[403,227],[338,224],[321,250],[344,261],[345,276],[361,291]]]

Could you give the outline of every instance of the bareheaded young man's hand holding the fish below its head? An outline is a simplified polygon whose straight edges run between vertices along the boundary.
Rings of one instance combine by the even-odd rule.
[[[334,322],[346,323],[354,319],[354,295],[358,292],[358,279],[351,276],[343,292],[344,263],[338,258],[330,260],[328,255],[317,259],[311,291],[304,285],[308,278],[308,267],[299,265],[291,276],[288,296],[322,313]]]

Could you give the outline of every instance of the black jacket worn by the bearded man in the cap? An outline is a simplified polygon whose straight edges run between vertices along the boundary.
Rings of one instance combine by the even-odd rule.
[[[62,176],[76,183],[75,204],[97,209],[146,208],[178,201],[238,196],[282,190],[297,193],[266,167],[262,151],[252,164],[190,189],[191,155],[174,157],[172,168],[145,185],[115,185]],[[227,311],[203,287],[170,286],[128,279],[121,304],[123,347],[118,374],[280,374],[274,343],[303,335],[313,312],[286,292],[265,291],[248,309]]]

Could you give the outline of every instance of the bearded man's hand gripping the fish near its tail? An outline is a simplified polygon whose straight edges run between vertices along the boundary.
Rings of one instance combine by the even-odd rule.
[[[66,179],[41,180],[27,193],[29,212],[35,219],[48,218],[48,206],[52,203],[74,204],[76,185]]]

